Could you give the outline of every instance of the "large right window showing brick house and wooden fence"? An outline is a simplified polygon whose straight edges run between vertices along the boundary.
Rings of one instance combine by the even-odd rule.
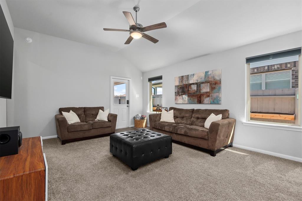
[[[301,125],[300,65],[301,48],[246,58],[247,121]]]

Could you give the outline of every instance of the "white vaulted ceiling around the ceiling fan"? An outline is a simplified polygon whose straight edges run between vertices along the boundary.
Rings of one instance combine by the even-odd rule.
[[[28,1],[6,0],[14,26],[119,52],[149,71],[226,49],[302,30],[302,1]],[[128,29],[122,11],[139,5],[143,26],[166,22],[124,45]]]

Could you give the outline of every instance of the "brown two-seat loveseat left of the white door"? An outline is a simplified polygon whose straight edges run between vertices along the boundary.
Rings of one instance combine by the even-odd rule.
[[[68,124],[63,112],[72,110],[78,115],[81,122]],[[70,107],[59,108],[59,115],[55,115],[56,131],[62,141],[66,142],[85,140],[94,137],[110,135],[115,132],[117,115],[109,113],[108,121],[95,121],[99,110],[104,111],[104,107]]]

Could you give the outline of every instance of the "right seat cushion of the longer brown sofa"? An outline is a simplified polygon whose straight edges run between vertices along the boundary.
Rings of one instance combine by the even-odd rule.
[[[204,140],[208,139],[209,129],[195,126],[195,125],[182,125],[175,127],[175,133],[182,134],[190,137],[197,137]]]

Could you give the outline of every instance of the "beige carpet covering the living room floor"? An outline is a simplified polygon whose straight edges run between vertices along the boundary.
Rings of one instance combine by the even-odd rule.
[[[216,157],[173,143],[173,153],[132,171],[109,137],[43,140],[49,200],[302,200],[302,163],[228,148]]]

